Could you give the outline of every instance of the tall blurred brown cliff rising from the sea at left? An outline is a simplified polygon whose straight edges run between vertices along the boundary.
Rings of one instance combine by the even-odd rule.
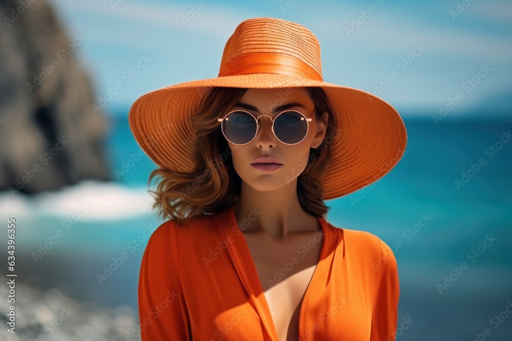
[[[0,190],[36,193],[111,180],[107,121],[76,49],[46,0],[0,2]]]

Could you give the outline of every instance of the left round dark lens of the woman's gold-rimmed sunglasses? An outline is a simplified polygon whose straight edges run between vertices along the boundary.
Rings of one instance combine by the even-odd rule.
[[[244,111],[233,111],[222,121],[222,130],[229,142],[243,145],[250,142],[258,125],[253,116]]]

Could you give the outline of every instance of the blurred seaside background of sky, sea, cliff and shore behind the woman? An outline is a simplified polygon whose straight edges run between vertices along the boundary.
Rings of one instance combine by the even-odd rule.
[[[259,16],[306,26],[325,81],[385,99],[406,124],[387,176],[326,202],[331,224],[393,248],[397,339],[512,339],[509,1],[0,4],[2,257],[16,220],[15,270],[0,262],[0,339],[140,339],[140,261],[163,221],[128,110],[152,90],[216,77],[229,36]]]

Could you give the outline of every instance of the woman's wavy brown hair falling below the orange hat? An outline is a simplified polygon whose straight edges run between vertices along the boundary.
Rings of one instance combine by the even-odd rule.
[[[297,195],[304,211],[325,218],[330,207],[324,203],[320,179],[329,164],[329,142],[334,138],[338,122],[324,89],[305,89],[315,104],[316,120],[322,119],[324,111],[328,112],[329,118],[324,141],[317,148],[311,148],[307,166],[297,178]],[[198,111],[191,116],[196,146],[193,172],[167,168],[151,172],[148,184],[154,176],[160,176],[156,191],[148,191],[156,195],[153,209],[158,209],[159,217],[174,219],[183,225],[195,217],[219,212],[238,199],[241,178],[234,170],[231,150],[217,119],[234,107],[246,90],[212,87],[203,97]]]

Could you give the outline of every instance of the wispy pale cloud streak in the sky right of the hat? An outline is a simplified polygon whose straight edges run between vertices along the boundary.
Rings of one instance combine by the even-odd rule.
[[[345,18],[327,17],[324,24],[319,26],[321,30],[315,30],[315,34],[344,41],[366,42],[387,49],[410,49],[415,43],[422,42],[431,51],[446,52],[452,55],[450,57],[484,57],[486,60],[500,61],[512,58],[510,38],[491,32],[467,30],[453,22],[447,12],[439,13],[446,16],[446,22],[442,24],[432,17],[421,19],[407,13],[391,13],[383,7],[377,7],[377,10],[371,13],[371,16],[350,36],[345,33],[345,27],[350,27],[352,19],[361,15],[359,10],[366,8],[344,10],[345,13],[354,13],[353,17],[348,17],[347,14]]]

